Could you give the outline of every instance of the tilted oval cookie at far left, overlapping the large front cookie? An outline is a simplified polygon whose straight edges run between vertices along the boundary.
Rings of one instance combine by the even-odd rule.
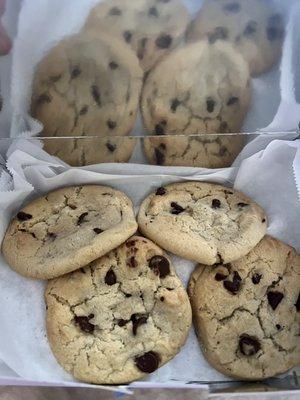
[[[136,229],[132,203],[124,193],[106,186],[67,187],[19,211],[2,252],[19,274],[50,279],[101,257]]]

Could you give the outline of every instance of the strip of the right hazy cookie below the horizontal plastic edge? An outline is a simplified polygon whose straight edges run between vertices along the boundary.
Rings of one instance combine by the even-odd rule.
[[[242,135],[163,136],[143,139],[150,164],[202,168],[230,167],[245,145]]]

